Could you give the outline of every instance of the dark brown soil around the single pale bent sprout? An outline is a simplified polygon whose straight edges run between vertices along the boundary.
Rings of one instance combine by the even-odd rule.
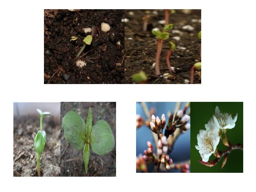
[[[124,83],[124,9],[45,9],[44,10],[44,83],[85,84]],[[108,23],[110,31],[101,30]],[[97,35],[86,45],[78,67],[76,55],[83,39],[91,33],[83,28],[95,25]],[[72,36],[78,37],[70,41]],[[120,45],[118,42],[120,41]],[[90,51],[90,52],[89,52]],[[117,64],[119,63],[119,64]]]

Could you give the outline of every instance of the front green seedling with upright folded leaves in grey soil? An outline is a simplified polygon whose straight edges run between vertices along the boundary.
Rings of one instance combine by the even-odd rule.
[[[37,153],[37,175],[40,177],[40,156],[44,151],[46,142],[46,134],[45,132],[38,131],[35,137],[35,150]]]

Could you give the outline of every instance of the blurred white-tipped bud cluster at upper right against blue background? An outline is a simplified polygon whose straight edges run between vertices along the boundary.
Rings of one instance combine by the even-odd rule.
[[[189,120],[190,116],[183,114],[183,110],[178,110],[175,115],[172,113],[169,117],[164,135],[168,138],[169,135],[173,134],[176,128],[179,128],[182,131],[187,131],[190,129],[190,124],[188,123]]]

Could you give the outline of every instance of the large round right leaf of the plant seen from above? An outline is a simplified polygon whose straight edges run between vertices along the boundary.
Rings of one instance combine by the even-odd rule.
[[[107,122],[104,120],[98,120],[93,125],[90,142],[92,151],[98,155],[104,155],[114,148],[114,135]]]

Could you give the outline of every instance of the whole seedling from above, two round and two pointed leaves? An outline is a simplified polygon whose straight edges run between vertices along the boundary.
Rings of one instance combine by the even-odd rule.
[[[86,123],[75,111],[67,112],[62,119],[65,139],[77,150],[83,149],[86,174],[90,156],[90,145],[92,151],[98,155],[109,153],[115,146],[114,135],[106,121],[98,120],[94,125],[92,124],[91,108],[89,109]]]

